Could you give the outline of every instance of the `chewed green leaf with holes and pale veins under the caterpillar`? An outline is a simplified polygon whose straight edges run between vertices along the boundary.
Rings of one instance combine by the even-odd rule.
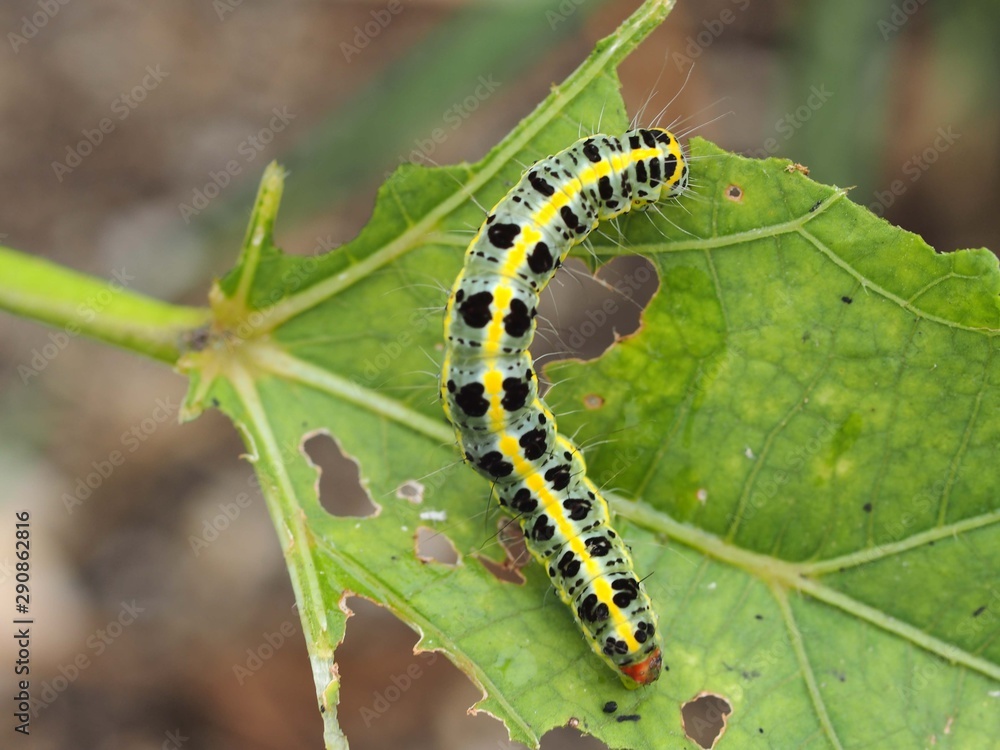
[[[397,171],[364,231],[327,255],[273,245],[282,175],[265,174],[214,323],[181,361],[185,414],[216,405],[244,436],[328,747],[346,744],[334,659],[353,595],[443,651],[482,688],[477,707],[531,746],[571,723],[613,747],[679,747],[681,706],[703,692],[728,702],[732,747],[1000,735],[996,259],[935,254],[786,161],[694,140],[694,195],[625,218],[620,241],[594,236],[602,261],[655,263],[640,331],[547,373],[564,433],[613,437],[588,463],[652,574],[669,672],[624,690],[537,566],[518,585],[483,562],[503,559],[489,488],[435,395],[445,289],[483,217],[471,198],[492,204],[581,129],[623,131],[614,67],[669,5],[643,5],[480,163]],[[375,515],[322,508],[302,450],[317,432],[358,463]],[[421,560],[421,527],[459,562]],[[639,719],[603,713],[609,700]]]

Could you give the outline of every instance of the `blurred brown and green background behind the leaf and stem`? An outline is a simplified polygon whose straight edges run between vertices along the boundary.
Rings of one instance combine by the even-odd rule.
[[[329,249],[396,164],[477,160],[637,6],[7,0],[0,241],[202,304],[269,160],[291,171],[280,243]],[[996,250],[998,32],[991,0],[680,0],[623,66],[624,94],[634,112],[654,92],[656,112],[694,62],[666,122],[690,115],[724,148],[855,185],[854,200],[942,251]],[[481,77],[498,85],[476,98]],[[217,197],[201,210],[199,192]],[[0,609],[13,514],[28,508],[31,678],[46,704],[20,746],[321,747],[291,587],[237,435],[215,413],[178,426],[185,384],[166,368],[53,335],[0,316]],[[362,501],[344,490],[353,465],[317,450],[324,496]],[[391,615],[352,606],[339,651],[352,747],[515,747],[466,715],[477,693],[457,669],[414,656]],[[7,695],[15,656],[0,644]],[[414,664],[418,689],[379,712]],[[543,742],[601,746],[570,730]]]

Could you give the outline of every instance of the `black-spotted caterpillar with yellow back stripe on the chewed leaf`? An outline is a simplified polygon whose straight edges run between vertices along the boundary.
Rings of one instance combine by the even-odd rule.
[[[579,449],[538,395],[538,295],[601,221],[680,196],[688,160],[662,128],[594,135],[527,169],[480,227],[445,307],[440,394],[464,460],[493,482],[594,652],[636,688],[661,638],[628,547]]]

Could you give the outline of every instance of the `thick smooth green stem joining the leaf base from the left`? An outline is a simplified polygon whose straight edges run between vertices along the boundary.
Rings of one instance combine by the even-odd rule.
[[[171,305],[130,292],[130,277],[98,279],[0,247],[0,309],[173,364],[186,333],[208,308]]]

